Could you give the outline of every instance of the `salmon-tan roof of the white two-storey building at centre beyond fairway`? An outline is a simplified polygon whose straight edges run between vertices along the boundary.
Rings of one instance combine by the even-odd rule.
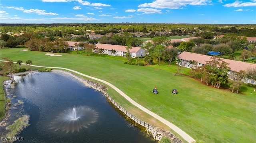
[[[110,45],[110,44],[96,44],[96,47],[99,49],[106,49],[106,50],[116,50],[116,51],[123,51],[126,52],[127,50],[125,49],[126,46],[121,46],[121,45]],[[141,48],[140,47],[132,47],[130,49],[130,53],[137,53]]]

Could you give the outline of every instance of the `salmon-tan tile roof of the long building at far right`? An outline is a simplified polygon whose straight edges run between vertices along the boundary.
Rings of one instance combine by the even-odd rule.
[[[184,60],[187,60],[187,61],[195,60],[198,63],[204,64],[204,65],[206,64],[206,61],[210,61],[211,57],[212,56],[201,55],[201,54],[190,53],[190,52],[182,52],[180,55],[177,56],[178,59],[184,59]],[[242,62],[242,61],[234,61],[234,60],[223,59],[223,58],[221,58],[221,59],[223,61],[229,63],[228,67],[230,67],[231,71],[239,72],[240,70],[246,71],[246,69],[248,69],[249,67],[255,67],[256,68],[256,64],[245,63],[245,62]]]

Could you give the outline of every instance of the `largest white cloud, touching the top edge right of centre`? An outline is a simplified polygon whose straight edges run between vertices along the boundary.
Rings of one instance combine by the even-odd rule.
[[[140,4],[138,7],[178,9],[186,5],[207,5],[211,0],[155,0],[152,3]]]

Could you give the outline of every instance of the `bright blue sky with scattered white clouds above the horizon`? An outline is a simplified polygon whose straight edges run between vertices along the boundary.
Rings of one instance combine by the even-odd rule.
[[[2,24],[256,24],[256,0],[1,0]]]

